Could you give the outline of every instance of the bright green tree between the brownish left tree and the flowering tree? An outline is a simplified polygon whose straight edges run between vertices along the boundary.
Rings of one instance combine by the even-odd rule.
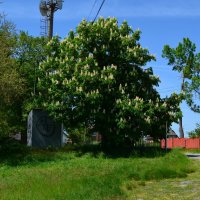
[[[39,64],[46,59],[47,41],[45,37],[33,37],[25,32],[20,32],[17,37],[14,56],[20,76],[25,80],[26,93],[20,102],[21,112],[25,119],[28,112],[35,108],[34,97],[38,95],[37,71]]]

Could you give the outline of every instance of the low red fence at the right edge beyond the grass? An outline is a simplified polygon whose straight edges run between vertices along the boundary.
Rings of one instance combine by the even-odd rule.
[[[200,149],[200,138],[169,138],[167,139],[167,148],[186,148]],[[165,148],[165,140],[161,140],[161,148]]]

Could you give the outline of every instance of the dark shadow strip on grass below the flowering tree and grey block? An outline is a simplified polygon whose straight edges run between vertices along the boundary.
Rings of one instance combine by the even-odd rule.
[[[67,145],[64,148],[32,149],[11,138],[0,140],[0,164],[16,167],[38,165],[45,162],[70,160],[74,157],[92,158],[154,158],[161,157],[166,151],[160,147],[123,147],[102,148],[99,144]]]

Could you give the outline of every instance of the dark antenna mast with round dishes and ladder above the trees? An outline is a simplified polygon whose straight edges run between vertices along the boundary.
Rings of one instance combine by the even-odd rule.
[[[53,21],[54,13],[59,9],[62,9],[63,0],[41,0],[40,1],[40,13],[42,16],[46,17],[41,20],[44,25],[41,26],[44,29],[44,34],[46,35],[46,29],[48,27],[48,38],[49,40],[53,37]],[[47,23],[46,23],[46,22]]]

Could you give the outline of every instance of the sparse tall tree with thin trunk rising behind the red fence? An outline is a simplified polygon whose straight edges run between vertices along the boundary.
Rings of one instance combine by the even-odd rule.
[[[192,43],[188,38],[183,38],[183,42],[179,43],[176,48],[171,48],[169,45],[165,45],[162,55],[163,57],[168,59],[168,64],[173,66],[173,70],[181,73],[181,92],[186,92],[186,99],[190,106],[192,106],[193,104],[192,91],[194,91],[194,88],[199,89],[200,87],[198,85],[199,81],[196,81],[196,77],[198,77],[199,71],[197,73],[194,71],[195,68],[197,68],[197,62],[199,61],[200,54],[196,54],[195,51],[195,44]],[[188,81],[191,78],[193,80],[190,83]],[[180,117],[179,119],[179,132],[180,137],[184,137],[182,117]]]

